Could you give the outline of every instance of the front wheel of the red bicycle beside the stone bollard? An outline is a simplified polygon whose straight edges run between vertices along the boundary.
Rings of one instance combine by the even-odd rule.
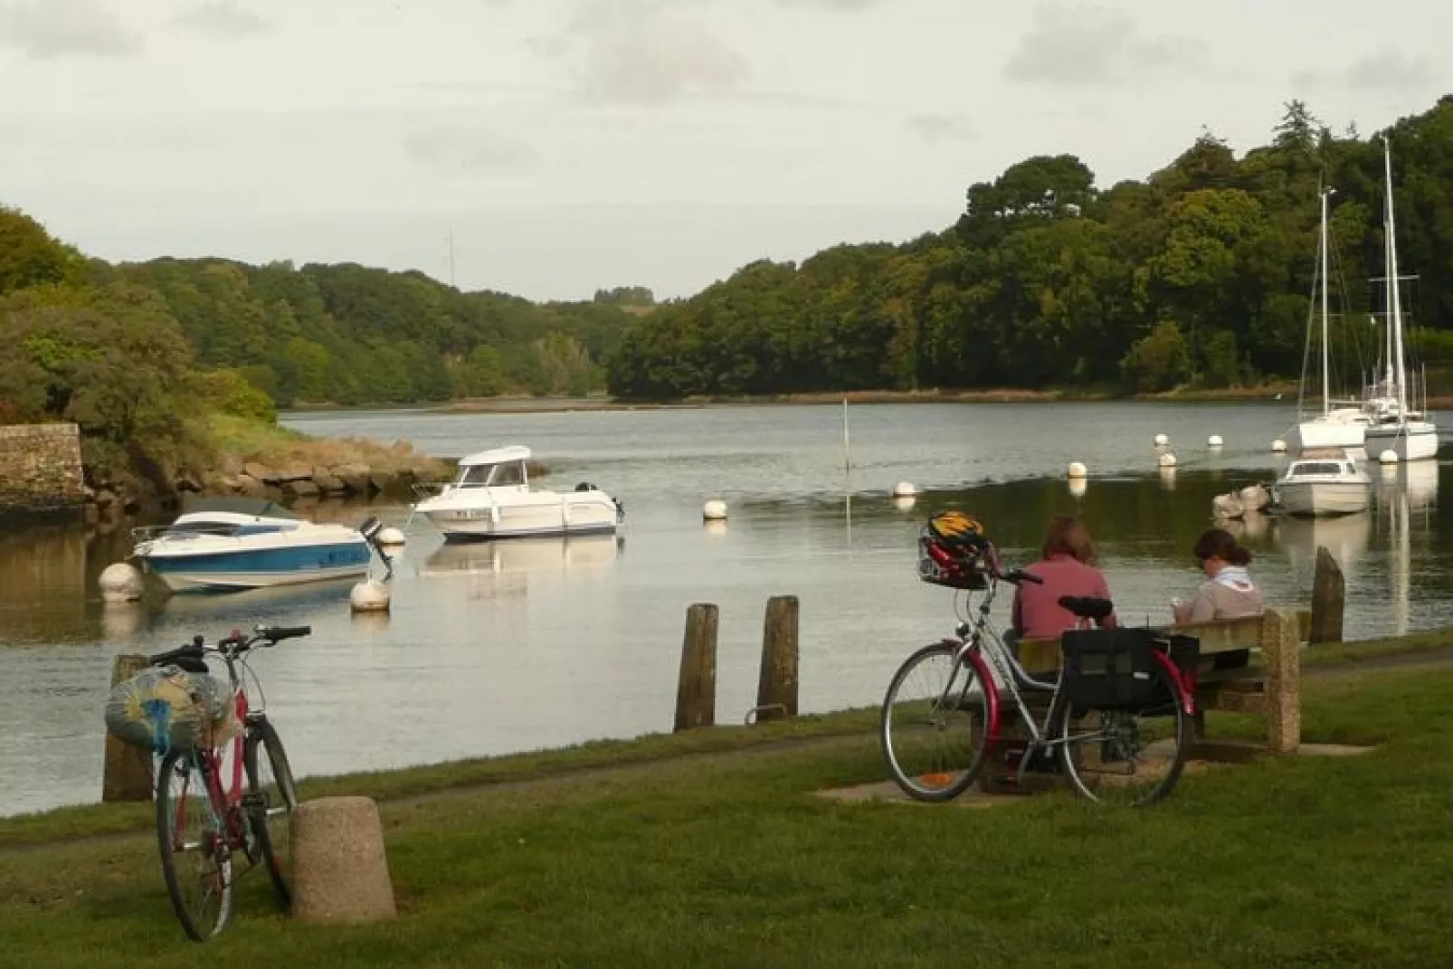
[[[205,761],[170,751],[157,773],[157,846],[171,908],[187,936],[206,941],[232,917],[232,851],[214,811]]]

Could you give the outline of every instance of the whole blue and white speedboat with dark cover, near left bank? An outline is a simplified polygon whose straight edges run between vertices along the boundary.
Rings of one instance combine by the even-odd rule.
[[[378,520],[315,524],[266,498],[208,498],[134,529],[132,556],[171,591],[295,585],[366,575]]]

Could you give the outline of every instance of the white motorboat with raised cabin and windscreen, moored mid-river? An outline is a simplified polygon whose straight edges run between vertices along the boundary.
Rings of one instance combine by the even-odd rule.
[[[459,472],[424,492],[413,511],[450,539],[510,539],[546,535],[615,533],[625,511],[590,482],[574,491],[533,491],[530,449],[481,450],[459,461]],[[433,487],[432,487],[433,488]]]

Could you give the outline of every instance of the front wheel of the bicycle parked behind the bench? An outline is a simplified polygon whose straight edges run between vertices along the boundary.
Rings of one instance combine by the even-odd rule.
[[[958,798],[988,748],[988,699],[959,646],[933,644],[904,661],[888,684],[879,739],[888,773],[915,800]]]

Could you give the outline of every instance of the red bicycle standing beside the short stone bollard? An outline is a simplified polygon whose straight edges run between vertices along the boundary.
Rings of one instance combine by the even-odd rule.
[[[174,664],[189,673],[208,673],[206,654],[221,657],[240,726],[231,737],[167,750],[157,770],[161,876],[177,921],[196,941],[212,938],[231,920],[234,854],[247,859],[246,870],[266,864],[278,904],[283,909],[292,905],[285,840],[286,815],[298,806],[298,790],[288,754],[267,719],[262,683],[246,657],[256,646],[273,646],[311,632],[311,626],[257,626],[251,636],[234,631],[214,646],[196,636],[185,646],[148,657],[154,667]],[[244,674],[251,674],[257,684],[257,706],[250,705]],[[198,827],[190,837],[189,809],[195,809]],[[186,856],[195,856],[190,870],[182,861]]]

